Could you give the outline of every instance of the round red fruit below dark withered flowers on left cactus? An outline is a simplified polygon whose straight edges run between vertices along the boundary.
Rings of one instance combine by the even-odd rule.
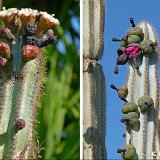
[[[40,49],[37,46],[25,45],[22,48],[22,57],[24,61],[30,61],[39,56]]]

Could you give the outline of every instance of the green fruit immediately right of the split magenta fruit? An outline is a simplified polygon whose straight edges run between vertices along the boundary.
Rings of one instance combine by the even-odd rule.
[[[150,44],[153,44],[153,42],[151,40],[144,40],[140,43],[140,47],[143,50],[144,55],[147,55],[147,54],[154,52],[155,47],[150,46]]]

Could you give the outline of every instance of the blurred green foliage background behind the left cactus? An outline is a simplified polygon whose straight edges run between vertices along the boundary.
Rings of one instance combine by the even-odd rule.
[[[4,0],[8,8],[32,8],[55,14],[60,26],[56,46],[48,46],[47,79],[39,105],[37,135],[45,147],[40,159],[79,159],[80,40],[79,0]]]

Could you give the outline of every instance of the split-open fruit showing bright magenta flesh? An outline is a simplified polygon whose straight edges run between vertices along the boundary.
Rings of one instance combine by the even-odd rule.
[[[137,57],[141,53],[141,48],[137,45],[128,46],[125,50],[125,54],[129,57]]]

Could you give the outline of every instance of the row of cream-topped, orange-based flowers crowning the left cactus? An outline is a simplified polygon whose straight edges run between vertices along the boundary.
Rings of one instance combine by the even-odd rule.
[[[26,24],[37,25],[37,35],[41,36],[47,30],[59,25],[58,19],[53,17],[54,14],[50,15],[47,12],[39,12],[31,8],[22,8],[18,10],[17,8],[10,8],[7,10],[0,11],[0,20],[2,20],[7,27],[11,30],[17,28],[17,26],[22,27]],[[39,22],[38,22],[39,20]]]

